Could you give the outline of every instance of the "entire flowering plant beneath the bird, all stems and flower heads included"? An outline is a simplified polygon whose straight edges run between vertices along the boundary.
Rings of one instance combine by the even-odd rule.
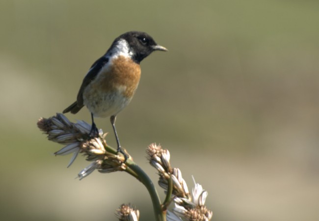
[[[47,134],[49,140],[64,145],[55,155],[72,154],[67,167],[71,166],[81,153],[87,161],[91,162],[82,169],[78,178],[81,180],[97,170],[101,173],[125,171],[138,179],[148,190],[151,196],[156,221],[209,221],[212,219],[212,211],[206,208],[205,200],[207,191],[194,180],[195,187],[189,193],[186,181],[182,177],[179,168],[170,164],[170,153],[155,143],[149,145],[146,150],[149,163],[158,170],[160,176],[158,184],[166,193],[163,203],[149,176],[133,161],[126,152],[128,159],[106,143],[106,135],[99,130],[99,136],[89,136],[91,125],[84,121],[70,122],[68,118],[57,113],[50,118],[40,118],[37,126]],[[168,211],[169,205],[174,202],[173,212]],[[116,216],[120,221],[138,221],[139,211],[128,204],[122,204],[117,210]]]

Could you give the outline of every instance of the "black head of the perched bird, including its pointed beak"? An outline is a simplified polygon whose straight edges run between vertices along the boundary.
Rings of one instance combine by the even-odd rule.
[[[154,51],[167,51],[166,48],[158,45],[147,33],[141,31],[129,31],[117,37],[113,45],[121,39],[129,44],[129,51],[136,63],[140,63],[145,57]]]

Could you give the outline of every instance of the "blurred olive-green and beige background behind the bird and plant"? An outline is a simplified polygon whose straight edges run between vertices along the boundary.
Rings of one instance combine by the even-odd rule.
[[[114,38],[148,32],[168,53],[142,61],[121,144],[157,183],[145,148],[160,143],[214,221],[319,220],[319,1],[0,1],[0,220],[116,220],[133,203],[153,220],[146,189],[124,172],[92,173],[36,122],[75,101]],[[90,122],[83,109],[71,120]],[[110,132],[108,119],[98,127]],[[163,191],[158,188],[161,197]]]

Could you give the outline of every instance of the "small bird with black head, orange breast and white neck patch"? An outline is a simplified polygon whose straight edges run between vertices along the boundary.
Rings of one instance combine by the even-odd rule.
[[[79,112],[84,106],[91,112],[90,137],[98,137],[94,117],[110,117],[117,142],[117,154],[122,153],[115,128],[117,114],[132,100],[138,86],[140,62],[154,51],[168,51],[158,45],[146,32],[128,31],[111,44],[106,53],[97,59],[88,70],[78,92],[77,100],[63,113]]]

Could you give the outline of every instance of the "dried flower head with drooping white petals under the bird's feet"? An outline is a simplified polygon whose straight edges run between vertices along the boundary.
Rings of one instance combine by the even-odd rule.
[[[65,115],[57,113],[56,116],[40,118],[37,125],[48,135],[49,140],[65,145],[56,151],[55,155],[73,154],[68,167],[79,153],[86,156],[87,161],[92,162],[80,171],[78,174],[80,180],[95,169],[103,173],[126,169],[126,165],[123,164],[124,157],[119,157],[115,150],[106,145],[106,134],[103,135],[103,131],[100,130],[98,138],[91,138],[89,136],[91,125],[84,121],[73,123]]]

